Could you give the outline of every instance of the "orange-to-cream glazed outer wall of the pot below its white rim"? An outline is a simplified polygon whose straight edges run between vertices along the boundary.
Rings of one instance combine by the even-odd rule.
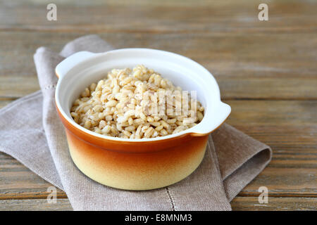
[[[204,158],[208,140],[208,135],[185,135],[163,143],[92,139],[61,120],[78,169],[94,181],[126,190],[161,188],[184,179]]]

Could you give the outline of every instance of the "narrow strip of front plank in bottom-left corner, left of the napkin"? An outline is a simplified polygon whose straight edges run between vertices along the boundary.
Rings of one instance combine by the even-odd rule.
[[[0,211],[73,211],[68,199],[48,203],[46,199],[0,200]]]

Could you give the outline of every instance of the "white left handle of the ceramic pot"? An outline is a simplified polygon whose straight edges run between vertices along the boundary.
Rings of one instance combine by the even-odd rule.
[[[58,63],[58,65],[55,68],[56,76],[59,78],[66,75],[66,73],[71,70],[75,65],[78,63],[81,63],[82,61],[86,60],[90,56],[94,55],[94,53],[89,51],[78,51],[77,53],[74,53],[71,56],[68,56],[68,58],[61,61],[61,63]]]

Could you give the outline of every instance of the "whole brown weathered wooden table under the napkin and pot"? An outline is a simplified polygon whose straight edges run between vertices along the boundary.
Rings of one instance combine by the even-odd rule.
[[[43,1],[44,2],[44,1]],[[33,53],[99,34],[116,48],[180,53],[209,69],[232,107],[229,124],[273,148],[233,210],[316,210],[316,1],[0,1],[0,107],[39,89]],[[268,21],[258,5],[268,4]],[[63,191],[0,153],[0,210],[71,210]],[[267,186],[268,204],[258,202]]]

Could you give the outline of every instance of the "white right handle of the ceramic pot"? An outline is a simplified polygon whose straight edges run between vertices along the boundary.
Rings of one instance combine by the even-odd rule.
[[[225,122],[231,113],[230,105],[220,102],[218,105],[218,112],[213,117],[204,117],[204,119],[194,126],[193,130],[189,133],[191,136],[206,136]]]

